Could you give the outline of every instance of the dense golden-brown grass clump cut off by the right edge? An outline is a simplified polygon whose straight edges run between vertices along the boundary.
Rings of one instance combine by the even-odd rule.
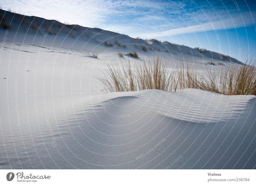
[[[252,58],[243,65],[220,69],[218,73],[206,70],[199,88],[226,95],[256,95],[256,64]]]

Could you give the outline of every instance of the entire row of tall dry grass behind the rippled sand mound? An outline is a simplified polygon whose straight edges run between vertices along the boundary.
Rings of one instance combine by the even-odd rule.
[[[135,62],[111,61],[103,76],[97,78],[106,92],[159,89],[175,92],[196,88],[225,95],[256,95],[255,62],[247,61],[239,67],[220,68],[218,73],[206,69],[197,72],[195,66],[180,63],[169,68],[161,57]]]

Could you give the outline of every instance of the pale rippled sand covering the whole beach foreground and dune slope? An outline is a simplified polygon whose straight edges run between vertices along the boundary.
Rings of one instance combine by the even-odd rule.
[[[81,37],[75,30],[72,38],[44,37],[43,27],[35,36],[13,25],[1,50],[1,169],[255,168],[255,96],[197,89],[103,93],[92,78],[105,63],[120,61],[117,52],[136,51],[138,61],[159,53],[170,64],[184,60],[215,71],[218,63],[237,60],[154,40],[147,43],[156,50],[145,52],[134,46],[145,41],[97,28]],[[127,48],[108,49],[106,39]]]

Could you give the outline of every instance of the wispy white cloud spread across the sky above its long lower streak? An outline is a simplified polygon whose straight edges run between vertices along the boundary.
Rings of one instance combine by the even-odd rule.
[[[216,29],[252,25],[255,17],[255,6],[250,10],[245,3],[236,5],[228,0],[12,0],[1,1],[1,6],[26,15],[145,38],[208,31],[212,29],[209,19]]]

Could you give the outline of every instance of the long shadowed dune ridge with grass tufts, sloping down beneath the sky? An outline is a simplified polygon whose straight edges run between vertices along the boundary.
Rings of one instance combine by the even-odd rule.
[[[51,46],[65,46],[101,53],[111,49],[112,52],[136,51],[139,55],[150,56],[159,53],[172,60],[187,60],[194,63],[239,63],[235,58],[200,48],[189,48],[156,39],[142,40],[131,38],[100,28],[88,28],[68,25],[57,20],[47,20],[35,16],[24,16],[10,11],[0,10],[1,32],[10,28],[9,41]]]

